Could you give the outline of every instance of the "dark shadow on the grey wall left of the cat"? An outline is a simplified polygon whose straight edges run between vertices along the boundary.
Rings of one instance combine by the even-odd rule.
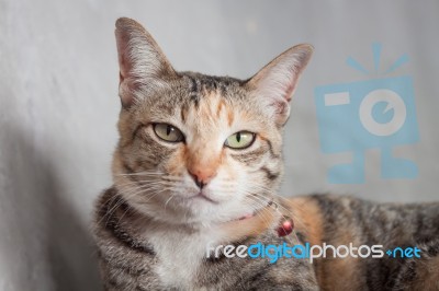
[[[101,290],[90,232],[54,167],[61,161],[38,152],[23,130],[5,125],[2,131],[1,152],[7,154],[0,156],[0,174],[8,209],[0,214],[8,223],[0,225],[9,238],[4,247],[0,238],[0,252],[5,252],[2,264],[14,266],[8,270],[9,284],[14,290]]]

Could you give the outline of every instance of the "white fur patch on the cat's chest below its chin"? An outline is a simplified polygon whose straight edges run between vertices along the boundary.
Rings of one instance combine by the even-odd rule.
[[[159,263],[156,272],[166,287],[191,290],[194,276],[206,256],[207,245],[215,245],[219,237],[214,229],[188,233],[184,231],[156,230],[148,233]]]

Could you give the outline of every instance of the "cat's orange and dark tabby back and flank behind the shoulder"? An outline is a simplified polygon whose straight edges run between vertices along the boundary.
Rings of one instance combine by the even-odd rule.
[[[286,205],[296,233],[305,233],[311,245],[357,247],[356,256],[334,257],[329,251],[316,259],[323,290],[439,290],[439,202],[380,203],[353,196],[309,195],[291,198]],[[363,254],[375,246],[378,256],[359,257],[363,245]],[[397,247],[417,247],[419,257],[386,253]]]

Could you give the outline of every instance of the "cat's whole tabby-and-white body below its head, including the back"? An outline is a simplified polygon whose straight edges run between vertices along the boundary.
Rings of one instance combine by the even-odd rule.
[[[438,290],[439,213],[437,203],[372,203],[352,197],[296,197],[289,206],[296,221],[295,235],[279,237],[277,221],[244,228],[240,237],[217,229],[154,230],[126,206],[109,211],[122,198],[114,188],[99,202],[99,256],[108,290]],[[111,214],[109,214],[111,213]],[[140,219],[140,220],[139,220]],[[145,221],[146,220],[146,221]],[[261,221],[255,224],[261,223]],[[260,226],[260,225],[259,225]],[[267,229],[264,229],[267,226]],[[154,231],[148,231],[153,229]],[[237,230],[238,231],[238,230]],[[248,235],[245,235],[248,231]],[[218,235],[222,234],[222,235]],[[222,236],[222,237],[218,237]],[[232,236],[232,237],[229,237]],[[216,241],[215,241],[216,240]],[[206,258],[206,245],[281,245],[283,242],[383,245],[383,249],[417,246],[421,258]],[[198,248],[198,252],[195,249]]]

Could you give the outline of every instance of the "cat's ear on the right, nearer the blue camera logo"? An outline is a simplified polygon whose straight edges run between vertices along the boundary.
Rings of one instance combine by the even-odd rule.
[[[267,109],[271,109],[279,125],[286,123],[290,115],[292,95],[299,78],[313,54],[313,46],[302,44],[294,46],[257,72],[246,85]]]

